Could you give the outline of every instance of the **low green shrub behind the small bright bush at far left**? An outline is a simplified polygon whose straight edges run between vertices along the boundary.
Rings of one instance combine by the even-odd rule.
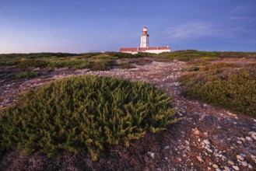
[[[17,65],[18,68],[44,68],[47,66],[47,61],[36,60],[36,59],[26,59],[20,61]]]

